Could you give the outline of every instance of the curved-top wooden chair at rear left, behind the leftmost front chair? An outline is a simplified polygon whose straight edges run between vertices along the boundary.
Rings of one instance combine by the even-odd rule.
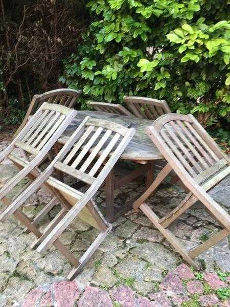
[[[43,102],[60,104],[72,108],[80,95],[80,90],[75,91],[70,89],[59,89],[46,92],[40,95],[34,95],[29,105],[26,116],[22,121],[20,127],[16,130],[13,138],[18,135],[18,133],[26,125],[30,117],[35,113],[36,109],[39,108]]]

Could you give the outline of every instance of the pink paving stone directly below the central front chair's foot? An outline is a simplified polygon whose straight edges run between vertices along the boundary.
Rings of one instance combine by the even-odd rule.
[[[81,293],[75,281],[55,282],[52,288],[57,306],[74,306]]]

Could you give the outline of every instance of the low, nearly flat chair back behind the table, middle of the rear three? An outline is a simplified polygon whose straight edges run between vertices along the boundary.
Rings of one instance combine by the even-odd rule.
[[[96,109],[96,111],[101,112],[108,112],[108,113],[115,113],[115,114],[121,114],[125,116],[132,116],[132,113],[130,113],[123,105],[121,104],[114,104],[114,103],[106,103],[106,102],[96,102],[96,101],[88,101],[87,105],[90,107],[93,107]]]

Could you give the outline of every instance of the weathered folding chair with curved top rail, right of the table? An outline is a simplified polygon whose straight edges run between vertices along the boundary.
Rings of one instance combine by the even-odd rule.
[[[163,115],[155,120],[152,126],[147,127],[147,134],[168,164],[133,207],[140,208],[183,259],[197,267],[193,258],[226,237],[230,231],[228,213],[207,193],[230,174],[230,161],[192,115]],[[159,218],[145,201],[172,170],[190,192],[179,206]],[[198,200],[222,230],[188,252],[167,228]]]

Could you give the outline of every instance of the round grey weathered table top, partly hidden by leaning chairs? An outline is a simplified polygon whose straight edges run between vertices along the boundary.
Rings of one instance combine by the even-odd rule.
[[[163,159],[163,156],[160,155],[160,152],[145,132],[145,128],[152,124],[152,120],[127,117],[120,114],[100,111],[78,111],[77,119],[79,121],[79,119],[84,119],[86,116],[106,119],[121,124],[125,127],[133,127],[136,129],[136,133],[122,153],[120,157],[121,159],[138,161],[139,163],[143,164],[145,164],[148,160]],[[62,144],[66,143],[67,138],[73,134],[73,129],[76,129],[74,123],[67,127],[58,142]]]

